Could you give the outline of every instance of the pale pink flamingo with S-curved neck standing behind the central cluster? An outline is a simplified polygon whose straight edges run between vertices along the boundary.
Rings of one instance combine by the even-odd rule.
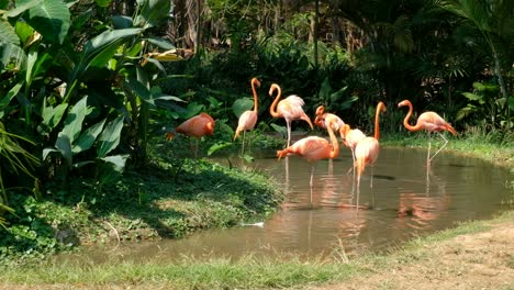
[[[275,91],[278,91],[277,97],[275,98],[271,107],[269,108],[269,113],[273,118],[283,118],[288,125],[288,147],[291,144],[291,122],[294,120],[304,120],[309,123],[311,129],[314,129],[312,125],[311,119],[303,112],[302,105],[305,104],[302,98],[292,94],[288,98],[280,100],[282,90],[277,83],[272,83],[269,88],[269,96],[272,96]]]

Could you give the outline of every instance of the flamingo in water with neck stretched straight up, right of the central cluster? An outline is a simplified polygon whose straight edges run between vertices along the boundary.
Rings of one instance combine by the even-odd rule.
[[[380,127],[379,127],[379,118],[380,113],[383,111],[386,112],[387,108],[383,102],[379,102],[377,105],[377,111],[375,112],[375,136],[373,137],[365,137],[357,146],[355,146],[355,159],[356,159],[356,167],[357,167],[357,187],[360,185],[360,176],[362,175],[367,165],[375,165],[378,159],[379,152],[380,152],[380,144],[379,144],[379,136],[380,136]],[[371,180],[372,180],[372,172],[371,172]],[[371,187],[373,183],[371,181]]]

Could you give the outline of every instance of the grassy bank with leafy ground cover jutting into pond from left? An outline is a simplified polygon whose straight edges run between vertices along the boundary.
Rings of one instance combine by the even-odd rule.
[[[176,158],[156,143],[152,161],[112,182],[70,177],[68,190],[49,187],[12,200],[12,224],[0,239],[4,265],[24,265],[80,245],[183,237],[266,219],[282,201],[271,177],[206,159]]]

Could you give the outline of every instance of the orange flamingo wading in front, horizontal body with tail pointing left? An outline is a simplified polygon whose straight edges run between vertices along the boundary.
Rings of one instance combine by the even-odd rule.
[[[311,181],[309,182],[311,200],[315,163],[321,159],[334,159],[339,155],[339,143],[334,134],[332,121],[326,123],[326,125],[331,142],[319,136],[309,136],[294,142],[283,150],[277,152],[279,160],[289,154],[294,154],[311,163]]]

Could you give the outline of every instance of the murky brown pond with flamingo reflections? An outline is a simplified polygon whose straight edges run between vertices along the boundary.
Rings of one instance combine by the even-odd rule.
[[[217,161],[226,164],[226,159]],[[94,250],[88,253],[89,259],[169,261],[182,255],[310,257],[383,252],[458,222],[489,219],[507,210],[513,200],[506,187],[512,178],[507,170],[445,152],[427,169],[426,150],[382,148],[376,166],[366,168],[357,188],[351,154],[343,149],[338,158],[315,164],[312,192],[311,164],[301,157],[278,161],[269,153],[235,166],[275,178],[286,192],[281,210],[254,225]]]

